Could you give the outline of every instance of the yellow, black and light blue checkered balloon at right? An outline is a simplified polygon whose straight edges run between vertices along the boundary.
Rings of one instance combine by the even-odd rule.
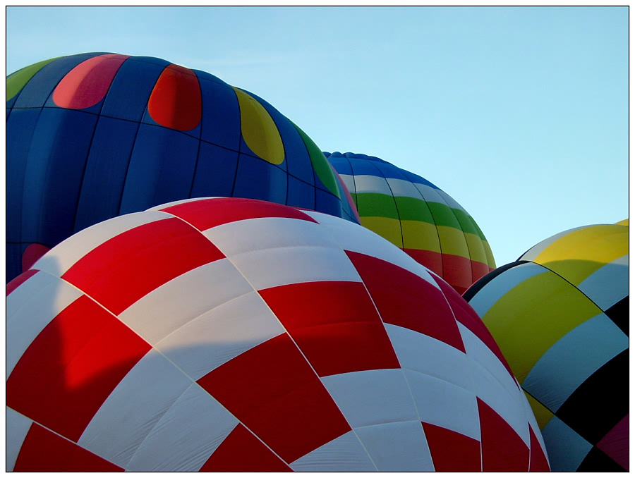
[[[553,235],[464,298],[526,391],[552,470],[628,470],[628,220]]]

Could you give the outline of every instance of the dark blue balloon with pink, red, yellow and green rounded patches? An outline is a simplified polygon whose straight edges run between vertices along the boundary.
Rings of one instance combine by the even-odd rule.
[[[310,137],[210,73],[78,54],[9,75],[6,98],[8,279],[87,226],[189,197],[250,197],[356,221]]]

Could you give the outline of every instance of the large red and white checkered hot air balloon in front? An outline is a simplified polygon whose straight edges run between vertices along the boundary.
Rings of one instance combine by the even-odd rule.
[[[351,221],[184,200],[8,284],[7,469],[548,470],[482,321]]]

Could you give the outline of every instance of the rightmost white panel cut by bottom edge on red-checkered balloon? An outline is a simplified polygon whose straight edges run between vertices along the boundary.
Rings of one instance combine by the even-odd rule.
[[[380,472],[435,470],[421,422],[373,425],[355,433]]]

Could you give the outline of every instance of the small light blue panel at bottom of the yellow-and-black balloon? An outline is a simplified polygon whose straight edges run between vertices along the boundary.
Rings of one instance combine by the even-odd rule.
[[[552,472],[574,472],[593,446],[558,417],[542,429]]]

